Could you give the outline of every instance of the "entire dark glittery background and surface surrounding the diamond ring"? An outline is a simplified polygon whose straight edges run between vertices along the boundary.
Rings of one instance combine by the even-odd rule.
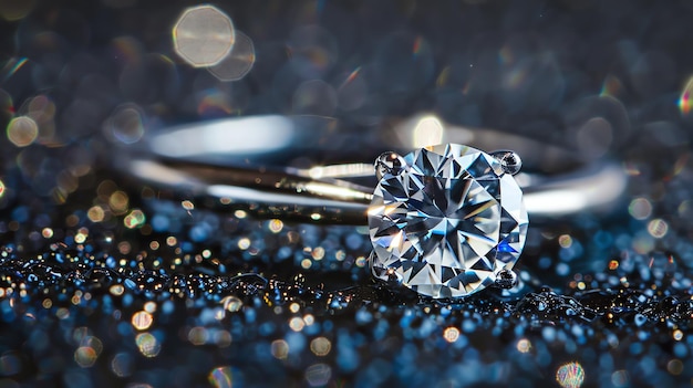
[[[0,387],[690,385],[691,20],[683,0],[0,0]],[[268,113],[360,134],[433,114],[614,159],[629,191],[531,230],[519,292],[446,306],[371,290],[353,229],[112,170],[149,132]],[[236,272],[270,285],[200,295]]]

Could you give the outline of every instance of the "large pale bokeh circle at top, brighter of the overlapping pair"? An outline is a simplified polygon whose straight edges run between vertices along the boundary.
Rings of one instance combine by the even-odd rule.
[[[174,49],[188,64],[209,67],[231,51],[235,31],[231,19],[213,6],[186,9],[173,29]]]

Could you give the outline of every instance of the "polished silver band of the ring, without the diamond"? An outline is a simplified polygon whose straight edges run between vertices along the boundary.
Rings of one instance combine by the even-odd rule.
[[[433,116],[385,125],[377,135],[346,132],[332,118],[314,116],[194,123],[147,134],[118,153],[116,166],[157,188],[261,217],[365,224],[375,187],[371,160],[436,140],[517,151],[528,172],[516,179],[534,220],[610,209],[627,183],[622,167],[606,158],[586,160],[569,148],[443,125]],[[354,160],[365,155],[368,164]]]

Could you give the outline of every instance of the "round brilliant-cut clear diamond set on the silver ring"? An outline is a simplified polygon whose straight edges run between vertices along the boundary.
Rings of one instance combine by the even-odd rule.
[[[385,170],[369,208],[373,275],[420,294],[466,296],[510,270],[525,245],[523,191],[468,146],[417,149]]]

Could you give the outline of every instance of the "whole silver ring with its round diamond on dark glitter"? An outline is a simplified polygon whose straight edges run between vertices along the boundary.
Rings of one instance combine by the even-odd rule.
[[[405,129],[383,129],[383,141],[321,117],[221,119],[147,134],[116,153],[115,165],[209,208],[368,223],[373,276],[434,298],[511,287],[528,214],[542,222],[609,209],[625,187],[620,166],[567,148],[454,127],[441,145],[422,147],[420,128]],[[463,144],[520,149],[529,172],[518,153]],[[353,160],[369,154],[380,155],[374,165]]]

